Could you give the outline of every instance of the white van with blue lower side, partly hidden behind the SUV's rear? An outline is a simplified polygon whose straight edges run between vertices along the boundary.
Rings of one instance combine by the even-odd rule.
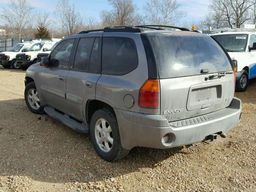
[[[211,34],[228,52],[236,69],[236,91],[243,92],[249,79],[256,77],[256,28],[241,25]]]

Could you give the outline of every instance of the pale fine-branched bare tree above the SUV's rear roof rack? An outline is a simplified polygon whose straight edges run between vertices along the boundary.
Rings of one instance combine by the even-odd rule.
[[[144,23],[156,25],[175,25],[186,16],[186,12],[179,10],[180,4],[176,0],[150,0],[143,6]]]

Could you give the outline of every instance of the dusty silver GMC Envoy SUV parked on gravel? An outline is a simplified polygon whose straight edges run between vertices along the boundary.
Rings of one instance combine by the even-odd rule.
[[[30,66],[25,100],[34,113],[90,132],[98,155],[115,161],[136,146],[164,149],[225,137],[242,111],[235,80],[232,60],[210,36],[185,28],[108,27],[68,36]]]

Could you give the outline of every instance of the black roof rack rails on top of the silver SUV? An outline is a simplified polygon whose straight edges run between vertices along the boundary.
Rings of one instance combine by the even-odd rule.
[[[90,32],[135,32],[135,33],[141,33],[141,32],[144,32],[144,30],[142,28],[153,29],[153,30],[164,30],[162,28],[155,28],[155,27],[174,28],[174,29],[179,29],[182,31],[190,31],[187,28],[165,26],[165,25],[137,25],[137,26],[132,25],[132,26],[108,26],[108,27],[105,27],[104,29],[81,31],[78,34],[85,34],[85,33],[90,33]]]

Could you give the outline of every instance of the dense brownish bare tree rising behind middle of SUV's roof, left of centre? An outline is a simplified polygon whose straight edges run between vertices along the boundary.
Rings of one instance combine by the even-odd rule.
[[[132,0],[108,0],[108,3],[113,7],[113,10],[100,12],[103,25],[126,26],[139,23],[137,8]]]

